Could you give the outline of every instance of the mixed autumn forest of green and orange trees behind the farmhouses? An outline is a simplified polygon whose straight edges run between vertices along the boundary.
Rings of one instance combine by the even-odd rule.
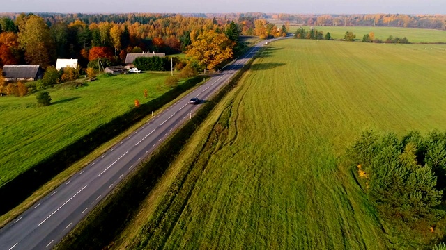
[[[194,41],[200,40],[200,35],[209,37],[203,35],[208,31],[234,42],[231,50],[237,50],[238,35],[268,38],[286,33],[284,27],[279,29],[266,19],[254,17],[240,18],[234,23],[220,17],[161,14],[3,14],[0,66],[40,65],[46,68],[54,65],[57,58],[77,58],[82,68],[98,58],[119,65],[127,53],[187,53],[194,47]],[[232,56],[231,53],[228,54]]]

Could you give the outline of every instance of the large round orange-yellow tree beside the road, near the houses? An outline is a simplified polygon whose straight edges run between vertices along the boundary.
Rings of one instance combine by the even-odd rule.
[[[187,55],[196,58],[199,63],[209,70],[233,56],[235,43],[226,35],[213,30],[203,31],[187,50]]]

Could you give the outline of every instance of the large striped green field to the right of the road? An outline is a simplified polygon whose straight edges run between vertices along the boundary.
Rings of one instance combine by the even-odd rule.
[[[443,47],[268,46],[116,249],[414,248],[387,233],[391,226],[378,219],[341,156],[364,128],[444,130]]]

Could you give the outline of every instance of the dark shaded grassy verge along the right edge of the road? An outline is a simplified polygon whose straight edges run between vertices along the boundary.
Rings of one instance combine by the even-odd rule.
[[[164,142],[152,156],[115,188],[105,201],[73,229],[55,249],[102,249],[112,247],[118,233],[132,220],[153,186],[183,149],[197,126],[206,119],[216,103],[233,88],[242,72],[234,76],[218,94],[206,101],[195,115]],[[187,172],[187,171],[186,171]],[[178,179],[181,182],[181,179]],[[169,202],[169,201],[163,201]],[[167,203],[170,208],[171,204]],[[183,205],[180,205],[183,208]],[[162,217],[162,213],[159,214]],[[159,218],[160,218],[159,217]]]

